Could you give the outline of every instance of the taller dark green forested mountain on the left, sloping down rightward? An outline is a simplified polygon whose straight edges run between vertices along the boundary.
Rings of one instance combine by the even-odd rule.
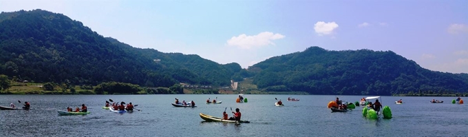
[[[233,66],[234,64],[234,66]],[[104,38],[83,23],[45,10],[0,14],[1,74],[74,85],[117,81],[149,87],[179,82],[229,85],[237,63],[220,65],[198,55],[133,48]]]

